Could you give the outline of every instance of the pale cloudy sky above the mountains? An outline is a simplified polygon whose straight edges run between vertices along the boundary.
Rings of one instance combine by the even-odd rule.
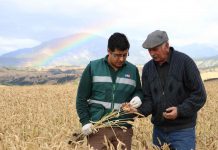
[[[142,43],[150,32],[165,30],[170,44],[218,49],[217,0],[0,0],[0,4],[0,55],[79,32],[105,38],[122,32],[130,42]]]

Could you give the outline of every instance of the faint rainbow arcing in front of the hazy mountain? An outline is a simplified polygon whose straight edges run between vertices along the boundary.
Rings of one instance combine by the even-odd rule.
[[[75,36],[69,37],[62,43],[55,45],[52,48],[44,48],[42,52],[46,54],[42,54],[34,59],[34,67],[40,66],[48,66],[49,63],[54,60],[55,58],[64,55],[65,53],[69,52],[73,48],[82,45],[83,43],[96,38],[96,35],[100,35],[101,33],[105,33],[106,30],[110,30],[113,28],[114,21],[107,21],[100,23],[98,25],[93,25],[91,28],[84,29],[84,33],[75,34]],[[87,33],[95,33],[95,34],[87,34]]]

